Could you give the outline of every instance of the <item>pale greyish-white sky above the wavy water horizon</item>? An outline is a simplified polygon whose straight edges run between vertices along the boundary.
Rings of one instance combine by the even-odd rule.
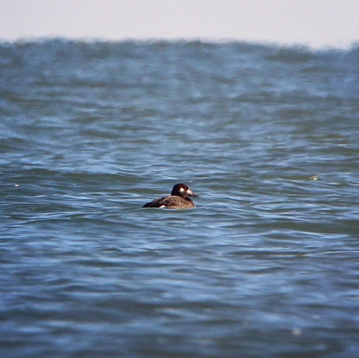
[[[359,0],[0,0],[0,40],[359,42]]]

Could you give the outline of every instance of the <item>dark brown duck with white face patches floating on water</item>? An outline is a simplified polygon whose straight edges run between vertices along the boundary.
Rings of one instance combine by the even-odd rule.
[[[169,196],[163,196],[146,203],[143,207],[159,207],[165,209],[192,209],[196,207],[189,196],[196,195],[186,184],[176,184]]]

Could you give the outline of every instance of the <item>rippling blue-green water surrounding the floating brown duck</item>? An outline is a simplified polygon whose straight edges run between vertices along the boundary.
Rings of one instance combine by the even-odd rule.
[[[2,43],[1,357],[358,357],[358,99],[356,46]]]

